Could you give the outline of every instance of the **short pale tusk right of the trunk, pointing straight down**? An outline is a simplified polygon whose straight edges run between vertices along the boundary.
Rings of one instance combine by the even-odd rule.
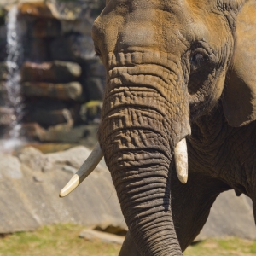
[[[176,165],[177,177],[181,183],[188,181],[188,149],[186,138],[177,143],[174,149],[174,159]]]

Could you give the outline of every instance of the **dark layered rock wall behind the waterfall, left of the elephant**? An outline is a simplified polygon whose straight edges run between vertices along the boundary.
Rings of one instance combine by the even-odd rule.
[[[0,0],[0,137],[12,121],[7,108],[8,12]],[[41,142],[85,143],[96,139],[105,71],[94,55],[90,29],[104,1],[21,1],[21,135]],[[20,27],[19,27],[20,29]],[[89,138],[90,137],[90,138]],[[92,139],[91,137],[94,137]]]

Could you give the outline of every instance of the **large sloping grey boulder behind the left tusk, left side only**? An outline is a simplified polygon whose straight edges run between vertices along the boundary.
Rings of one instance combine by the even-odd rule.
[[[117,196],[113,193],[112,179],[102,166],[96,168],[73,193],[65,198],[58,196],[73,176],[63,171],[63,166],[79,166],[89,153],[88,149],[79,148],[73,153],[61,153],[62,156],[45,154],[53,164],[48,172],[34,172],[29,166],[20,164],[23,177],[2,177],[0,234],[35,230],[56,223],[91,226],[108,222],[125,228]]]

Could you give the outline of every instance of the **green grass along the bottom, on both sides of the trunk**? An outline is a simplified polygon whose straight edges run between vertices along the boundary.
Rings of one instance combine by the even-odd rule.
[[[56,224],[34,232],[0,238],[0,256],[115,256],[120,246],[79,238],[83,226]],[[256,255],[256,241],[238,238],[209,239],[187,248],[184,256]]]

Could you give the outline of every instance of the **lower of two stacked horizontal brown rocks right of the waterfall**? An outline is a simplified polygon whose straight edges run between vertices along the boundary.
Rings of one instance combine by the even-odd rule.
[[[22,92],[26,97],[41,96],[63,101],[82,99],[82,85],[79,82],[67,84],[26,82],[22,84]]]

